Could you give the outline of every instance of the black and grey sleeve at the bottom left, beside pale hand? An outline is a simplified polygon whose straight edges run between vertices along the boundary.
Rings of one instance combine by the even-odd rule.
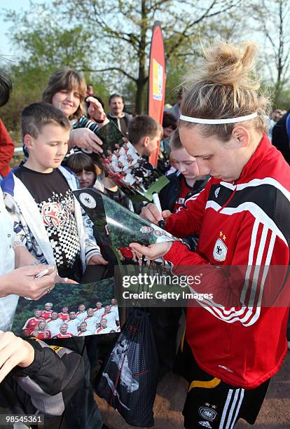
[[[48,346],[36,339],[25,341],[34,348],[34,362],[27,368],[16,367],[11,375],[18,377],[18,384],[30,395],[32,403],[37,404],[36,408],[41,404],[48,414],[51,397],[60,395],[62,414],[83,379],[83,358],[64,347]]]

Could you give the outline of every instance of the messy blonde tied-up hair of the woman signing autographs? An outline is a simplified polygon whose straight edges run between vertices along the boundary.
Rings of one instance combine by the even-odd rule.
[[[254,74],[256,43],[245,42],[238,46],[216,42],[204,50],[201,67],[185,82],[181,112],[185,116],[206,119],[224,119],[257,112],[257,118],[240,123],[260,132],[267,130],[264,116],[269,100],[259,95],[260,82]],[[192,128],[195,123],[179,121],[179,127]],[[235,124],[198,124],[205,137],[217,135],[228,142]]]

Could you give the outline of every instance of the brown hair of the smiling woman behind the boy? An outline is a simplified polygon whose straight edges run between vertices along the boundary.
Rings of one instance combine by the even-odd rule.
[[[42,93],[42,101],[51,104],[53,96],[61,90],[76,90],[80,94],[80,105],[69,119],[81,118],[85,114],[85,92],[87,90],[83,76],[69,67],[55,71],[50,76],[48,86]]]

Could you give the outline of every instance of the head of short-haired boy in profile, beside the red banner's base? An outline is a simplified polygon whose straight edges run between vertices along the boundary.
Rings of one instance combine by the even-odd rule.
[[[150,156],[156,151],[162,135],[160,123],[148,115],[135,116],[128,125],[129,142],[141,156]]]

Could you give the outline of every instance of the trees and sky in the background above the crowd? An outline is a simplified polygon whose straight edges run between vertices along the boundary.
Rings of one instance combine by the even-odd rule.
[[[284,4],[285,0],[275,2],[278,3]],[[265,1],[265,4],[270,2]],[[274,11],[274,6],[271,7]],[[257,20],[255,29],[249,27],[251,35],[248,35],[244,28],[250,25],[251,11],[253,17],[260,19],[258,27]],[[253,38],[255,30],[264,32],[264,39],[272,34],[277,36],[279,23],[266,28],[271,31],[267,36],[262,18],[268,20],[270,17],[272,22],[278,15],[270,13],[268,6],[261,8],[258,2],[251,4],[246,0],[215,0],[202,4],[193,0],[181,3],[177,0],[55,0],[43,4],[34,1],[25,13],[6,13],[6,21],[11,22],[9,36],[20,55],[14,63],[8,64],[14,90],[11,102],[1,109],[1,117],[8,130],[18,130],[22,107],[39,101],[50,74],[64,66],[83,71],[85,79],[93,84],[95,94],[104,101],[106,110],[109,94],[117,91],[123,93],[131,110],[137,114],[146,112],[149,50],[155,20],[160,21],[165,42],[166,102],[174,104],[175,89],[184,74],[188,69],[194,71],[201,51],[200,42],[206,46],[207,41],[216,38],[249,39]],[[280,38],[280,43],[275,41],[276,50],[286,46],[289,29],[285,22],[285,37]],[[267,52],[263,52],[263,59],[266,58],[270,69],[275,71],[273,54]],[[289,60],[287,53],[288,50],[284,50],[284,57]],[[285,63],[284,71],[287,70]],[[283,106],[288,102],[284,92],[288,88],[289,79],[286,78],[283,74],[279,80],[281,85],[274,85],[275,103],[282,102]]]

